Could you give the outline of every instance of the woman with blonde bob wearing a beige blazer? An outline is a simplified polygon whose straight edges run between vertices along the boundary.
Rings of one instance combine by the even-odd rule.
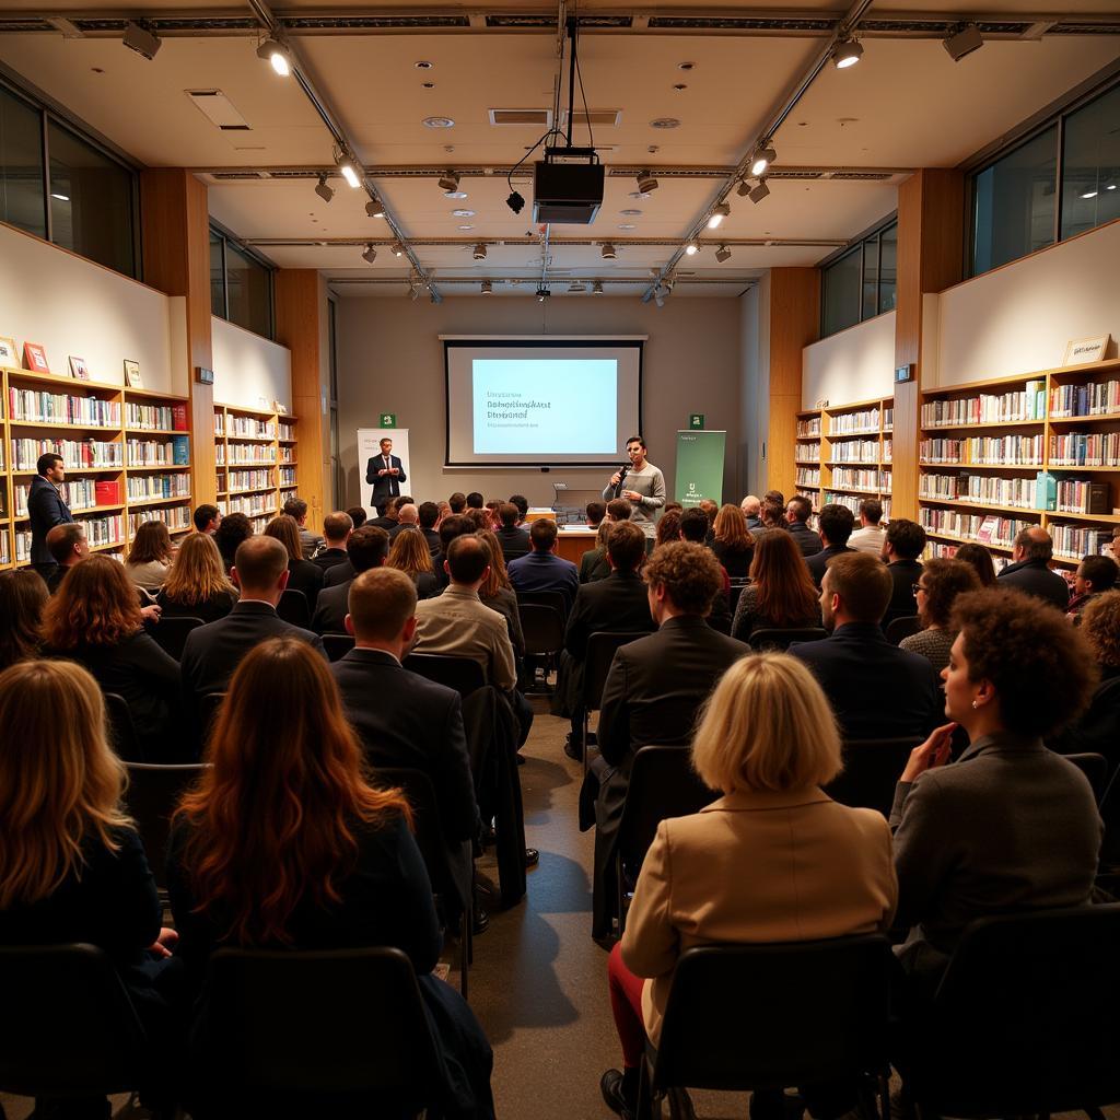
[[[685,950],[886,931],[897,902],[887,822],[821,790],[840,772],[840,735],[801,662],[762,654],[732,664],[708,701],[692,764],[722,796],[657,827],[607,967],[624,1070],[608,1070],[600,1088],[619,1114],[634,1108],[646,1038],[657,1045]],[[856,1085],[801,1089],[814,1117],[856,1105]],[[781,1092],[755,1093],[750,1114],[781,1118]]]

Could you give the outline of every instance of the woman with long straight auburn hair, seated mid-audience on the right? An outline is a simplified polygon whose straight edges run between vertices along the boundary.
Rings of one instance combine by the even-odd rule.
[[[796,542],[784,530],[766,530],[755,543],[750,582],[735,606],[731,637],[746,642],[756,629],[820,625],[818,591]]]

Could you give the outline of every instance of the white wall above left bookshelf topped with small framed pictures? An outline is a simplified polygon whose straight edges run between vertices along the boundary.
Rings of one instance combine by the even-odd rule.
[[[85,358],[94,381],[123,384],[124,360],[144,389],[186,394],[183,300],[0,223],[0,335],[41,343],[53,373]]]

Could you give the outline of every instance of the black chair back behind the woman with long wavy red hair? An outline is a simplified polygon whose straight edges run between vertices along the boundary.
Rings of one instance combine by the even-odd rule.
[[[435,1103],[436,1045],[399,949],[223,949],[206,990],[193,1081],[231,1116],[418,1116]]]

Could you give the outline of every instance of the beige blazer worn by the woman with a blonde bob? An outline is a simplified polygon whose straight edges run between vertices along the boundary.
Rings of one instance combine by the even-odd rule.
[[[622,942],[627,968],[650,981],[642,1014],[651,1042],[685,950],[886,931],[897,897],[887,822],[815,786],[741,790],[662,821]]]

